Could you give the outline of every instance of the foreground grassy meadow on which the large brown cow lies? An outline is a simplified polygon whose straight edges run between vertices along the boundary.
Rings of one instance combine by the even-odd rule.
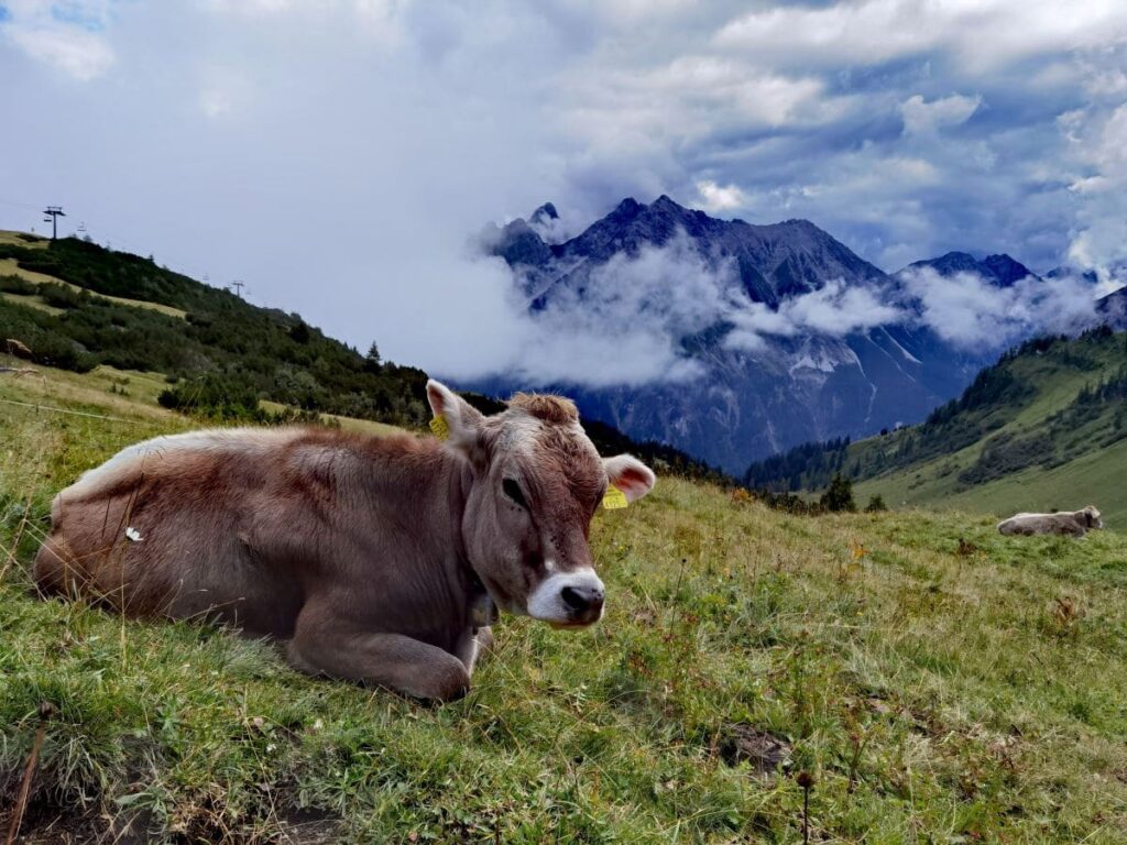
[[[130,397],[106,392],[123,377]],[[144,375],[46,379],[0,399],[131,421],[0,403],[0,808],[48,700],[26,826],[42,838],[134,818],[204,842],[800,840],[796,780],[725,762],[731,722],[815,774],[816,839],[1127,837],[1121,534],[796,518],[662,479],[596,518],[602,624],[506,619],[470,696],[428,708],[228,633],[30,598],[53,492],[185,426]],[[959,537],[978,551],[955,554]]]

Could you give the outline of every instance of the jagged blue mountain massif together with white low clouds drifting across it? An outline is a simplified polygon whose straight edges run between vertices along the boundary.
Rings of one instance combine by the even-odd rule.
[[[808,221],[722,221],[665,196],[550,242],[541,232],[562,223],[549,207],[487,231],[522,340],[488,371],[470,352],[455,375],[567,390],[589,415],[731,470],[919,419],[1009,344],[1098,319],[1091,278],[1041,278],[1005,255],[888,275]]]

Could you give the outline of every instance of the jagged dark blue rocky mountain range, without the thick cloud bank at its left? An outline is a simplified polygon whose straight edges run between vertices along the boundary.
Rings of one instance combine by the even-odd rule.
[[[529,315],[553,315],[558,329],[625,301],[622,285],[654,285],[630,305],[663,314],[662,328],[690,376],[616,385],[556,376],[531,385],[527,373],[492,373],[463,386],[498,395],[560,390],[585,417],[734,473],[796,444],[915,422],[958,395],[1001,347],[957,343],[935,323],[934,279],[973,278],[1002,302],[1024,279],[1045,291],[1055,284],[1008,255],[978,260],[949,252],[888,274],[809,221],[719,220],[667,196],[648,205],[623,199],[569,239],[560,230],[549,203],[485,238],[486,251],[512,268]],[[686,255],[699,267],[676,264]],[[658,273],[667,276],[658,284],[638,268],[622,273],[642,259],[641,270],[660,268],[664,258],[671,269]],[[689,284],[698,272],[710,279],[699,291]],[[702,311],[713,295],[722,306]],[[1121,320],[1125,305],[1120,292],[1100,303],[1102,318],[1093,313],[1070,328]],[[692,319],[682,320],[677,308]],[[1015,333],[1005,339],[1021,340],[1037,328],[1008,327]]]

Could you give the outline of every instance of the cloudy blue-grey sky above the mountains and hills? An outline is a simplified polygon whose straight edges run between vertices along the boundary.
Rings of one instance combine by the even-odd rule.
[[[438,370],[531,343],[468,241],[545,199],[1127,258],[1122,0],[0,0],[0,228],[61,204]]]

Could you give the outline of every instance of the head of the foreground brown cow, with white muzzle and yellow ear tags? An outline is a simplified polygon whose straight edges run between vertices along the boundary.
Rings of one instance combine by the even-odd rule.
[[[473,469],[462,532],[470,563],[497,605],[562,628],[603,615],[603,582],[587,544],[609,484],[635,501],[654,473],[630,455],[600,457],[567,399],[517,394],[485,417],[449,388],[427,399],[447,444]]]

